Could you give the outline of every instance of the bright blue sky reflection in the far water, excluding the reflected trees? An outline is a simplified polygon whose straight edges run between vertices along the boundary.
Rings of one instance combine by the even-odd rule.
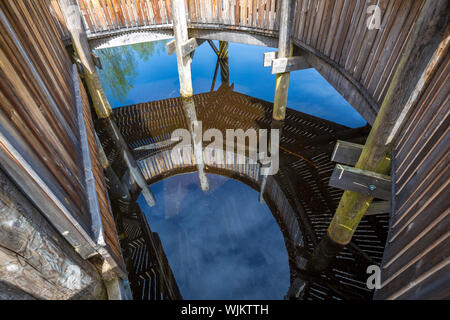
[[[218,42],[215,41],[218,47]],[[120,101],[106,88],[113,107],[179,96],[176,55],[167,56],[165,41],[156,47],[150,59],[140,59],[135,53],[136,76],[128,96]],[[264,52],[273,48],[229,44],[230,83],[235,91],[273,102],[275,75],[262,65]],[[101,54],[100,54],[101,56]],[[129,61],[130,59],[126,59]],[[192,82],[195,93],[211,88],[217,56],[208,43],[197,48],[192,63]],[[101,72],[102,80],[104,78]],[[216,89],[220,85],[220,71]],[[107,86],[106,86],[107,87]],[[288,107],[349,127],[361,127],[366,123],[344,98],[314,69],[291,72]]]

